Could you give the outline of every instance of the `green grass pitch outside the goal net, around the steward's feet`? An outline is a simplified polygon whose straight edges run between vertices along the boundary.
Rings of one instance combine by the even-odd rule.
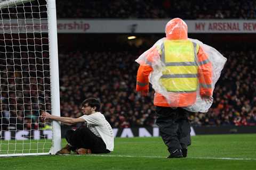
[[[256,169],[255,141],[256,134],[197,135],[187,158],[166,159],[169,153],[161,138],[116,138],[111,154],[3,157],[0,169],[249,170]]]

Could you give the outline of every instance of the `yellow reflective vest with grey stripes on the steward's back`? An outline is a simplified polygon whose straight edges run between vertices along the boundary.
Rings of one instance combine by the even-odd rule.
[[[190,40],[165,40],[161,60],[165,64],[161,82],[167,91],[194,92],[198,87],[197,53]]]

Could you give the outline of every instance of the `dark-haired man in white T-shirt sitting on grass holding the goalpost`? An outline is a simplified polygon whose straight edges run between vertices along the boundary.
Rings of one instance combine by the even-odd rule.
[[[76,130],[68,130],[66,140],[68,144],[56,154],[107,154],[114,149],[114,133],[105,116],[99,112],[100,101],[95,98],[85,99],[82,103],[82,113],[78,118],[54,116],[43,112],[41,118],[60,121],[73,125],[83,123]]]

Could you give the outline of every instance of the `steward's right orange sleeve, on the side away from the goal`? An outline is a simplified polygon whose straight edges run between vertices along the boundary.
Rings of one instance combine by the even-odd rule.
[[[197,56],[200,96],[212,96],[212,63],[201,47]]]

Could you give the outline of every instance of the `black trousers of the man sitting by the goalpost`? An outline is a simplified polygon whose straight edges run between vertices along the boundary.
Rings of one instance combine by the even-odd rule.
[[[91,149],[92,154],[106,154],[110,151],[106,149],[106,144],[90,129],[85,126],[74,130],[68,130],[66,140],[72,146],[71,150],[78,148]]]

